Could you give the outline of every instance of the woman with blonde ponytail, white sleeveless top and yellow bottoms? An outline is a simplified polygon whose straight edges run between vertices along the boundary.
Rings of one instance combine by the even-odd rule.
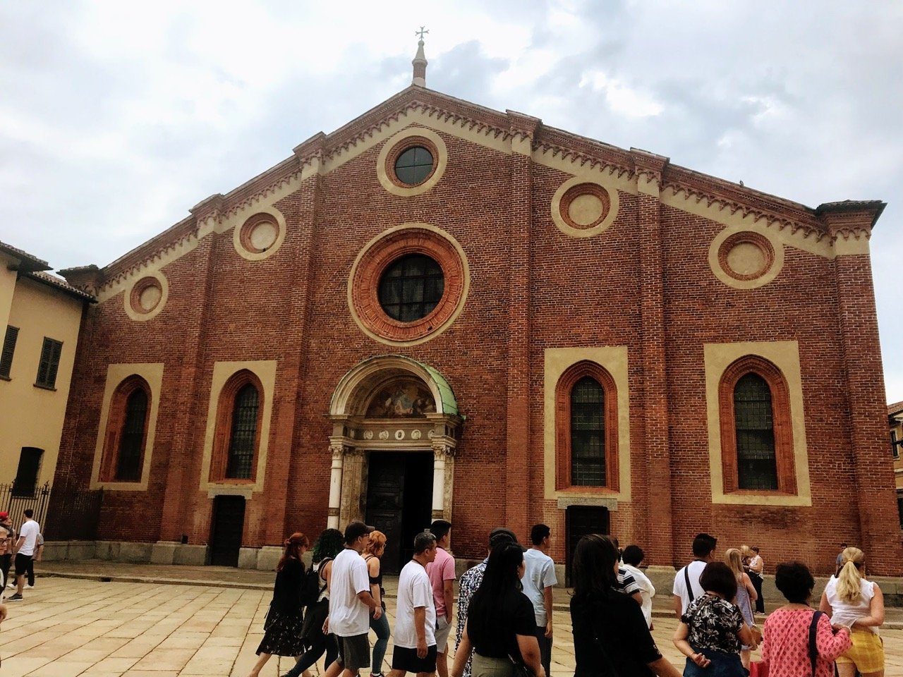
[[[884,645],[878,628],[884,623],[884,596],[877,583],[865,578],[865,553],[846,548],[840,573],[824,587],[820,608],[833,626],[850,628],[852,647],[837,659],[840,677],[883,677]]]

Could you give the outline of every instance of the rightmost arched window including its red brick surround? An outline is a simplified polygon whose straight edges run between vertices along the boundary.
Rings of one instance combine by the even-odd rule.
[[[721,376],[721,462],[725,493],[796,492],[787,381],[758,356]]]

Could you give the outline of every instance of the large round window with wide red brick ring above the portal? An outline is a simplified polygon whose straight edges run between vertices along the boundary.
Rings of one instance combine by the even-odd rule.
[[[406,224],[370,240],[348,285],[352,319],[370,338],[411,346],[461,313],[470,274],[461,246],[440,228]]]

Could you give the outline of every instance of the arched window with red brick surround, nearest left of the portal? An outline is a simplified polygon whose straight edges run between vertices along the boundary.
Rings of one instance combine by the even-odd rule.
[[[210,481],[253,481],[263,414],[263,385],[243,369],[219,393]]]

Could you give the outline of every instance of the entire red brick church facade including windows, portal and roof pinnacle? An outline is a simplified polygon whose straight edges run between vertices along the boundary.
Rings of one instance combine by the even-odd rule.
[[[387,569],[434,517],[758,544],[899,573],[869,236],[414,84],[104,268],[56,482],[97,538],[254,566],[366,519]],[[417,69],[420,69],[419,73]],[[64,505],[58,509],[65,510]]]

